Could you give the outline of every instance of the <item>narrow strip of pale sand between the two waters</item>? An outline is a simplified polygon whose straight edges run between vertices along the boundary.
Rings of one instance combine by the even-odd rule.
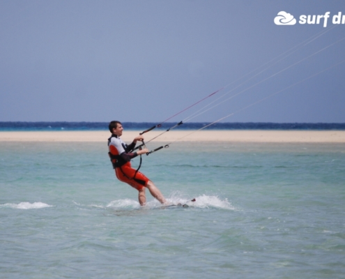
[[[125,130],[121,137],[131,142],[139,130]],[[326,142],[345,143],[344,130],[193,130],[169,131],[157,142]],[[162,131],[144,134],[151,140]],[[106,142],[110,133],[104,131],[3,131],[0,142]]]

